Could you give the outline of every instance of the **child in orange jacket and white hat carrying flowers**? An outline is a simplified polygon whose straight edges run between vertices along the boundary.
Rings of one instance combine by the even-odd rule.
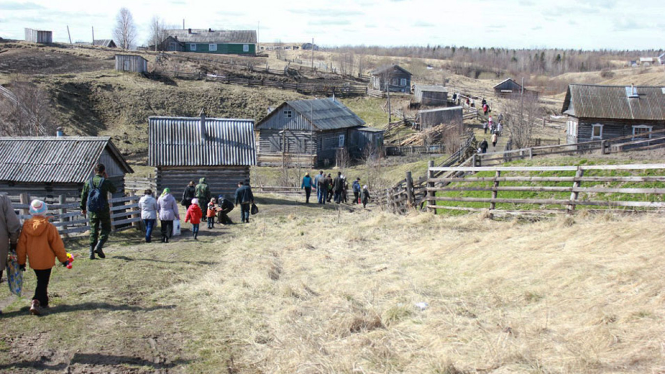
[[[55,265],[55,258],[67,266],[67,253],[65,244],[60,238],[58,229],[46,218],[48,206],[41,200],[33,200],[30,204],[30,214],[33,218],[23,222],[23,230],[16,248],[19,266],[25,271],[27,257],[30,268],[37,276],[37,288],[30,305],[30,313],[39,315],[41,309],[49,307],[49,280],[51,268]]]

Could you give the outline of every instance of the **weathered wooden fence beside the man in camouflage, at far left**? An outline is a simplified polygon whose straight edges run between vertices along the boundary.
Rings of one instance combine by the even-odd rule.
[[[113,231],[122,231],[130,228],[140,228],[141,210],[138,206],[139,196],[125,196],[110,198],[108,203],[111,210],[111,226]],[[78,202],[66,203],[65,196],[60,196],[61,204],[49,204],[47,216],[54,226],[58,228],[61,236],[83,233],[90,230],[88,218],[82,216]],[[31,218],[29,194],[19,196],[19,204],[13,204],[19,210],[21,221]]]

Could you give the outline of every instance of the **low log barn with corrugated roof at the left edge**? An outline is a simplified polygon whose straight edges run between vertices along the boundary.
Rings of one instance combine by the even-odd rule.
[[[124,176],[134,170],[109,136],[0,138],[0,191],[51,201],[60,195],[78,198],[98,162],[122,196]]]

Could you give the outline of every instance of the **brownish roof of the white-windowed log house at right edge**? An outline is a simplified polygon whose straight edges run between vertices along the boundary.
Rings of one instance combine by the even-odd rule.
[[[561,112],[578,118],[665,120],[663,87],[635,86],[635,91],[637,97],[631,98],[626,86],[569,85]]]

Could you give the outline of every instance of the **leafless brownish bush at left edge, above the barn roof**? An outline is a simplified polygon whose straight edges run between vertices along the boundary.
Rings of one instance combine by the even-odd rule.
[[[39,85],[14,80],[11,91],[0,87],[0,136],[53,135],[49,93]]]

